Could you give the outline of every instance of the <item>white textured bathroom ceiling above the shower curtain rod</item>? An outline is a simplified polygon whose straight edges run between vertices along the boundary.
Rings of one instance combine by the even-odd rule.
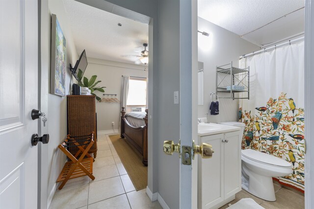
[[[198,0],[198,16],[264,45],[304,32],[304,9],[293,12],[302,7],[304,0]]]

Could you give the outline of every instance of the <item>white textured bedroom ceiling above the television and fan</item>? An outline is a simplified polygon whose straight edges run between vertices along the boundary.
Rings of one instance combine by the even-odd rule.
[[[147,24],[75,0],[63,0],[63,4],[78,54],[85,49],[88,57],[141,64],[139,57],[122,55],[140,55],[142,44],[148,43]]]

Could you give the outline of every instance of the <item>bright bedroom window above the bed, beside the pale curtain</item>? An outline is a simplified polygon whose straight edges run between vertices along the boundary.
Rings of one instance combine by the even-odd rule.
[[[146,106],[147,79],[130,77],[127,105]]]

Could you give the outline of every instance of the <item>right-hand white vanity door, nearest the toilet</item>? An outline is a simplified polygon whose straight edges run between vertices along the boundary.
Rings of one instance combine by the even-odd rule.
[[[224,144],[224,197],[241,191],[241,140],[239,131],[225,133]]]

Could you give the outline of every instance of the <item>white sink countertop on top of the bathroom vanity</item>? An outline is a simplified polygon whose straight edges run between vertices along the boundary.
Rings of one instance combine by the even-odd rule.
[[[229,131],[237,131],[239,128],[226,126],[216,123],[199,123],[197,126],[197,133],[199,136],[211,135],[216,133],[223,133]]]

